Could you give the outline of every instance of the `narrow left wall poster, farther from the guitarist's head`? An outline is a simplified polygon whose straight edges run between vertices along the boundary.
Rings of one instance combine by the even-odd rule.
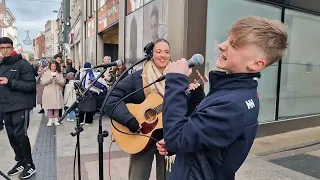
[[[125,38],[125,64],[126,67],[143,58],[143,9],[139,9],[126,17],[126,38]],[[129,72],[135,72],[142,68],[142,65],[134,67]]]

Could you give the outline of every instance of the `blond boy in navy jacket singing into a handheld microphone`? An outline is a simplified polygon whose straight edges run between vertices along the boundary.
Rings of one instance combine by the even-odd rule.
[[[176,153],[170,180],[234,180],[258,130],[260,71],[285,54],[288,35],[275,20],[249,16],[236,21],[218,47],[217,70],[206,98],[186,119],[190,69],[185,59],[169,65],[163,102],[160,154]]]

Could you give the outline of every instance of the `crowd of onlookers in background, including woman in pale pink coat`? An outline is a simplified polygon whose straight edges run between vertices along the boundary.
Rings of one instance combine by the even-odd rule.
[[[104,64],[110,63],[111,57],[105,56]],[[76,90],[74,83],[81,81],[84,88],[98,76],[102,69],[91,70],[91,63],[85,62],[83,67],[76,70],[71,59],[62,63],[62,56],[57,54],[53,60],[42,59],[34,65],[37,71],[37,104],[41,106],[39,114],[47,112],[49,118],[47,126],[59,126],[58,119],[76,101]],[[82,124],[90,125],[93,116],[100,111],[103,99],[112,85],[124,69],[107,68],[102,77],[90,89],[90,95],[79,103],[79,120]],[[71,111],[67,121],[75,120],[75,111]]]

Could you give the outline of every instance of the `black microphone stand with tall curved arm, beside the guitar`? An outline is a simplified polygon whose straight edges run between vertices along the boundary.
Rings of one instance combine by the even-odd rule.
[[[134,66],[136,66],[137,64],[140,64],[148,59],[151,59],[152,55],[145,55],[145,57],[143,59],[141,59],[140,61],[135,62],[132,66],[130,66],[128,69],[126,69],[123,73],[121,73],[121,75],[118,77],[118,79],[113,83],[111,89],[109,90],[109,92],[107,93],[106,97],[103,100],[101,109],[100,109],[100,116],[99,116],[99,129],[98,129],[98,147],[99,147],[99,180],[103,180],[103,141],[104,141],[104,137],[108,136],[108,131],[103,131],[102,130],[102,116],[103,116],[103,110],[104,107],[107,104],[107,101],[110,97],[111,92],[113,91],[113,89],[117,86],[118,82],[122,79],[122,77],[130,70],[132,69]]]

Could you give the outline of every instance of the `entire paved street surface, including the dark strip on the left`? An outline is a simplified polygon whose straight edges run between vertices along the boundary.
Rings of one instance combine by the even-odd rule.
[[[83,180],[98,179],[98,116],[90,126],[84,126],[84,131],[80,135],[81,147],[81,166]],[[74,131],[75,123],[65,121],[60,127],[54,130],[46,127],[46,119],[41,121],[42,116],[37,114],[37,110],[32,113],[32,121],[30,123],[29,135],[33,147],[33,156],[37,166],[37,173],[32,179],[46,180],[70,180],[73,179],[73,160],[76,137],[72,137],[70,132]],[[104,129],[110,132],[110,120],[103,120]],[[41,134],[38,134],[41,133]],[[281,153],[268,153],[277,149],[279,142],[277,139],[290,137],[295,139],[295,135],[299,135],[301,141],[305,141],[303,137],[309,138],[314,142],[318,137],[307,132],[320,134],[320,128],[308,129],[294,133],[286,133],[273,137],[257,139],[252,152],[247,158],[244,165],[236,175],[237,180],[316,180],[319,176],[319,159],[320,147],[318,145],[301,148],[299,150],[283,151]],[[304,135],[302,135],[304,134]],[[292,137],[293,136],[293,137]],[[286,141],[281,139],[282,145]],[[320,140],[320,139],[318,139]],[[104,142],[104,174],[105,179],[110,176],[112,180],[126,180],[129,166],[129,156],[123,153],[116,143],[112,144],[109,158],[110,136],[105,138]],[[294,143],[290,142],[290,146]],[[0,132],[0,170],[7,172],[14,165],[14,155],[8,143],[6,132]],[[300,142],[297,142],[300,144]],[[264,148],[265,145],[267,148]],[[284,145],[283,145],[284,146]],[[263,150],[265,149],[265,150]],[[297,154],[295,154],[297,153]],[[255,155],[258,154],[259,156]],[[294,156],[293,156],[294,155]],[[110,159],[110,161],[109,161]],[[77,168],[76,168],[77,169]],[[75,171],[77,174],[77,170]],[[313,177],[312,177],[313,176]],[[2,177],[0,177],[1,179]],[[18,179],[17,176],[12,177],[13,180]],[[155,180],[155,172],[153,168],[151,180]]]

